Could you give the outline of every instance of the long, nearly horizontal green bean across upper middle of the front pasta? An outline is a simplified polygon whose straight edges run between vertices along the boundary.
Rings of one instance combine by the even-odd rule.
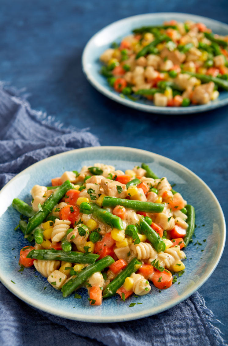
[[[123,206],[125,208],[131,208],[137,211],[145,211],[150,213],[161,213],[164,209],[164,204],[152,203],[152,202],[142,202],[131,199],[123,199],[116,197],[104,197],[102,202],[103,207],[116,207]]]

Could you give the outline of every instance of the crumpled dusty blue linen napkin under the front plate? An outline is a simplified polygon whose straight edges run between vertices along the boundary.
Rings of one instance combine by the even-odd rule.
[[[86,130],[52,125],[17,90],[0,86],[0,188],[42,158],[99,145]],[[135,321],[93,324],[50,315],[28,306],[0,284],[0,345],[226,345],[218,320],[198,292],[158,315]],[[217,325],[217,326],[216,326]]]

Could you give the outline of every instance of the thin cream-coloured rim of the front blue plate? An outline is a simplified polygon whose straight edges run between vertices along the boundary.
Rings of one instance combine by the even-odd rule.
[[[194,172],[192,172],[190,169],[188,169],[187,167],[183,166],[182,164],[178,163],[177,161],[174,161],[166,156],[160,155],[160,154],[156,154],[144,149],[138,149],[138,148],[133,148],[133,147],[123,147],[123,146],[95,146],[95,147],[86,147],[86,148],[78,148],[78,149],[74,149],[74,150],[69,150],[67,152],[64,153],[59,153],[56,155],[52,155],[49,157],[44,158],[43,160],[40,160],[30,166],[28,166],[26,169],[24,169],[23,171],[21,171],[20,173],[18,173],[15,177],[13,177],[6,185],[3,186],[3,188],[0,190],[0,196],[3,190],[5,190],[13,180],[17,179],[18,176],[23,175],[24,173],[26,173],[29,169],[31,169],[31,167],[34,167],[36,165],[39,165],[41,162],[50,160],[51,158],[54,157],[60,157],[62,155],[68,155],[68,154],[72,154],[72,153],[77,153],[77,152],[83,152],[83,151],[99,151],[99,150],[108,150],[108,149],[118,149],[118,150],[123,150],[123,151],[129,151],[132,152],[136,151],[137,153],[142,153],[142,154],[146,154],[146,155],[151,155],[151,158],[162,158],[165,160],[168,160],[171,164],[175,164],[177,165],[178,168],[185,170],[187,173],[190,173],[191,175],[194,176],[195,179],[199,180],[204,187],[208,190],[208,192],[211,194],[211,196],[214,198],[215,203],[217,204],[218,210],[219,210],[219,216],[222,220],[222,235],[223,235],[223,239],[222,239],[222,246],[220,248],[219,254],[216,257],[216,261],[213,263],[213,266],[210,268],[209,274],[205,275],[205,277],[203,277],[203,280],[199,283],[199,284],[195,284],[192,288],[189,288],[187,291],[185,291],[185,293],[182,293],[181,295],[178,295],[177,298],[173,299],[170,303],[164,303],[158,307],[153,307],[153,308],[149,308],[147,310],[143,310],[143,311],[139,311],[139,312],[129,312],[127,315],[118,315],[115,317],[103,317],[103,316],[97,316],[95,315],[95,317],[91,317],[91,316],[85,316],[83,314],[77,314],[77,316],[75,316],[75,313],[72,314],[64,314],[60,311],[58,311],[57,308],[46,308],[45,304],[39,304],[39,302],[37,302],[36,300],[29,298],[27,299],[26,294],[22,293],[22,292],[18,292],[17,291],[17,287],[14,285],[9,284],[4,276],[2,277],[2,273],[0,271],[0,280],[2,282],[2,284],[11,292],[13,293],[16,297],[18,297],[19,299],[21,299],[22,301],[24,301],[25,303],[29,304],[30,306],[37,308],[41,311],[50,313],[51,315],[55,315],[58,317],[63,317],[63,318],[67,318],[70,320],[77,320],[77,321],[82,321],[82,322],[93,322],[93,323],[107,323],[107,322],[121,322],[121,321],[130,321],[130,320],[135,320],[135,319],[140,319],[140,318],[144,318],[144,317],[148,317],[148,316],[153,316],[157,313],[160,313],[162,311],[168,310],[170,308],[172,308],[173,306],[179,304],[180,302],[186,300],[188,297],[190,297],[190,295],[192,295],[194,292],[196,292],[211,276],[211,274],[213,273],[213,271],[215,270],[215,268],[217,267],[220,258],[222,256],[222,253],[224,251],[224,247],[225,247],[225,242],[226,242],[226,222],[225,222],[225,217],[224,217],[224,213],[222,211],[222,208],[220,206],[220,203],[217,199],[217,197],[215,196],[215,194],[213,193],[213,191],[209,188],[209,186]],[[191,286],[192,287],[192,286]],[[76,311],[75,311],[76,312]]]

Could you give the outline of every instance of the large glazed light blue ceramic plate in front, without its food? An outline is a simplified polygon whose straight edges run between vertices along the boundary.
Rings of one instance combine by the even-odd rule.
[[[12,199],[19,197],[31,201],[29,191],[35,184],[50,185],[51,178],[61,176],[65,170],[80,170],[83,165],[96,162],[112,164],[125,171],[146,162],[158,176],[166,176],[175,190],[180,191],[188,203],[196,209],[196,238],[186,248],[185,273],[168,290],[159,293],[152,285],[149,294],[130,297],[126,302],[120,297],[103,301],[101,306],[91,307],[87,290],[80,289],[82,299],[74,294],[63,298],[47,279],[34,268],[18,272],[20,249],[28,245],[22,233],[15,231],[19,213],[12,206]],[[205,203],[206,202],[206,203]],[[183,301],[196,291],[212,274],[221,257],[226,237],[225,220],[219,202],[209,187],[194,173],[166,157],[133,148],[92,147],[51,156],[14,177],[0,192],[0,280],[13,294],[26,303],[53,315],[88,322],[127,321],[164,311]],[[207,239],[203,242],[203,239]],[[202,245],[195,245],[195,242]],[[201,250],[204,250],[201,252]],[[16,256],[16,258],[15,258]],[[14,282],[12,282],[12,281]],[[44,288],[47,287],[45,290]],[[140,302],[129,308],[132,302]]]

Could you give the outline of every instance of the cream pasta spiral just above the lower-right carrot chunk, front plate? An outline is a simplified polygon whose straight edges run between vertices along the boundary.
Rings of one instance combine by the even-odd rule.
[[[180,246],[177,246],[168,248],[164,252],[159,252],[157,259],[160,266],[170,268],[173,264],[185,257],[184,252],[180,250]]]

